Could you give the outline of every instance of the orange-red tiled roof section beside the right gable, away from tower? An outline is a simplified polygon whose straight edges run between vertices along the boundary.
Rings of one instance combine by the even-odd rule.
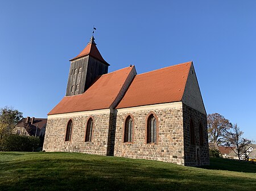
[[[116,108],[181,101],[192,62],[137,75]]]

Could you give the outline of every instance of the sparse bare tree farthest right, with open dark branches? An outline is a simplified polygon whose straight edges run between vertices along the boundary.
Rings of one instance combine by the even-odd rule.
[[[227,131],[226,134],[225,145],[232,148],[232,150],[238,155],[239,160],[241,160],[242,154],[246,154],[246,148],[251,143],[251,140],[243,138],[242,135],[243,131],[240,130],[237,124],[234,124],[232,129]]]

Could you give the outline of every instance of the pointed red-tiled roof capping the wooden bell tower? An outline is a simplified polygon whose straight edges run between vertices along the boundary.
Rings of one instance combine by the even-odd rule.
[[[93,58],[95,58],[96,60],[99,60],[103,63],[105,63],[106,65],[109,65],[108,62],[106,62],[102,56],[101,56],[101,53],[100,51],[98,51],[98,48],[96,46],[96,43],[94,42],[94,37],[92,36],[90,38],[90,41],[89,43],[87,44],[87,46],[82,50],[82,52],[79,53],[79,55],[77,55],[75,58],[72,58],[71,60],[69,61],[74,61],[74,60],[77,60],[78,58],[81,58],[81,57],[85,57],[87,55],[90,55],[92,56]]]

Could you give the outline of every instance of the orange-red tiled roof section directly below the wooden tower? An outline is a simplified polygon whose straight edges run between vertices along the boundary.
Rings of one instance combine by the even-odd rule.
[[[48,115],[109,108],[133,67],[101,75],[84,94],[64,97]]]

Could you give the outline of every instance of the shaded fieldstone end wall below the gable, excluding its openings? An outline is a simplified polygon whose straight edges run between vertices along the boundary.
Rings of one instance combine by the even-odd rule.
[[[195,130],[195,145],[190,141],[190,121],[193,121]],[[200,145],[199,125],[203,127],[203,145]],[[207,133],[207,116],[195,109],[183,104],[183,124],[184,124],[184,154],[185,165],[209,165],[209,147]],[[199,158],[197,158],[197,148],[199,149]],[[199,163],[197,163],[200,160]]]

